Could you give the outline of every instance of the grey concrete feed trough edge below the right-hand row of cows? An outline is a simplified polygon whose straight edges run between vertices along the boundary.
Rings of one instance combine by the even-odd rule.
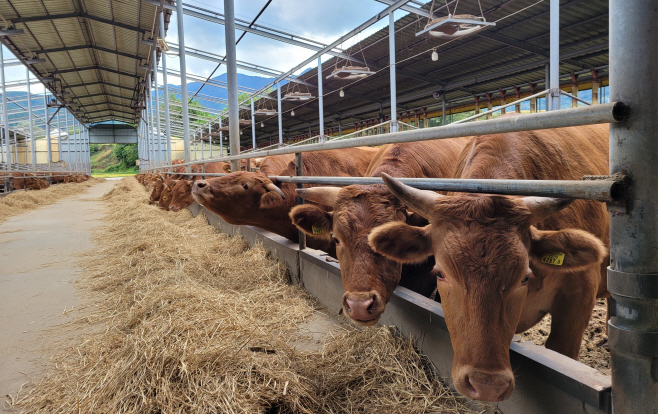
[[[291,270],[293,283],[302,284],[324,306],[338,312],[343,286],[338,263],[327,262],[327,254],[251,226],[225,222],[204,207],[189,207],[194,216],[204,213],[208,223],[231,235],[241,234],[249,243],[269,248]],[[381,324],[395,325],[404,335],[416,339],[438,374],[450,382],[453,351],[440,303],[398,287]],[[510,359],[516,377],[514,393],[497,404],[506,414],[516,413],[611,413],[611,378],[580,362],[532,342],[510,345]]]

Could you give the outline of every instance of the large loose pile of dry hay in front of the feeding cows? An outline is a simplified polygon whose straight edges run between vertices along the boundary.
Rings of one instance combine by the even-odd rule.
[[[14,400],[48,413],[467,413],[412,343],[345,328],[294,348],[316,312],[284,266],[124,179],[85,259],[95,327]],[[75,327],[76,325],[74,325]],[[102,327],[102,329],[98,329]]]

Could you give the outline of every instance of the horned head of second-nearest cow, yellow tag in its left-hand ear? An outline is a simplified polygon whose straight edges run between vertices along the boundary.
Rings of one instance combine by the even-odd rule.
[[[411,221],[411,214],[381,184],[314,187],[297,193],[307,201],[333,208],[327,212],[311,204],[297,206],[290,218],[309,236],[334,240],[345,289],[343,313],[356,325],[376,324],[400,282],[402,264],[375,252],[368,244],[368,234],[386,223]]]

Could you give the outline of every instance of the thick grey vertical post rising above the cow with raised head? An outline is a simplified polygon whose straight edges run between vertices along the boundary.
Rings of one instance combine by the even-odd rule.
[[[182,3],[182,2],[181,2]],[[235,46],[235,4],[224,0],[226,39],[226,83],[228,84],[228,142],[231,155],[240,154],[240,119],[238,107],[238,67]],[[240,160],[231,161],[231,171],[240,171]]]

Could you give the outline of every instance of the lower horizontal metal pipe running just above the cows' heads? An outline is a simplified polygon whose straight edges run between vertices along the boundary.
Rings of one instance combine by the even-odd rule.
[[[169,173],[171,175],[175,173]],[[222,177],[227,174],[179,174],[204,177]],[[383,184],[379,177],[295,177],[270,176],[282,183],[319,185],[372,185]],[[486,180],[459,178],[399,178],[411,187],[421,190],[454,191],[482,194],[559,197],[595,201],[619,201],[623,195],[620,180],[613,177],[602,180]]]

